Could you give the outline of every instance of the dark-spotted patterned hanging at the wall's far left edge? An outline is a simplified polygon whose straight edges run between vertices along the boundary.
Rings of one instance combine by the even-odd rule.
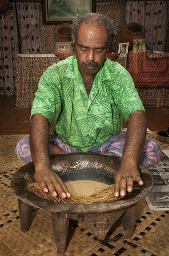
[[[0,95],[15,94],[16,55],[19,52],[14,3],[0,14]]]

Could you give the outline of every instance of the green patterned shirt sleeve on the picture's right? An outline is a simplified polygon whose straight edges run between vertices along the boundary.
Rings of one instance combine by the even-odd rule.
[[[143,110],[145,112],[132,77],[123,67],[119,67],[113,93],[116,95],[116,97],[114,97],[115,104],[126,123],[127,119],[134,111]]]

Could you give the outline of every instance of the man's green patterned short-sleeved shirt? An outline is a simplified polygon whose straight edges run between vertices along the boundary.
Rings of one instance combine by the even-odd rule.
[[[50,66],[35,93],[31,116],[44,115],[53,132],[77,149],[87,151],[119,134],[122,118],[143,110],[131,75],[106,58],[95,75],[88,97],[75,56]]]

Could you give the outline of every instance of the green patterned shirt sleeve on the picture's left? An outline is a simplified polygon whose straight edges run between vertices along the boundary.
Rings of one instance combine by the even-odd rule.
[[[59,84],[59,79],[56,64],[53,64],[42,75],[31,108],[31,117],[36,114],[44,115],[49,126],[56,121],[59,115],[60,94],[57,84]]]

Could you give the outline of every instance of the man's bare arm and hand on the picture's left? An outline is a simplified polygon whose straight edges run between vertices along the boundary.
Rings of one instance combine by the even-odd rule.
[[[33,115],[30,120],[30,148],[35,166],[35,180],[44,192],[50,192],[63,198],[70,197],[69,190],[62,179],[56,175],[50,166],[49,125],[43,115]]]

